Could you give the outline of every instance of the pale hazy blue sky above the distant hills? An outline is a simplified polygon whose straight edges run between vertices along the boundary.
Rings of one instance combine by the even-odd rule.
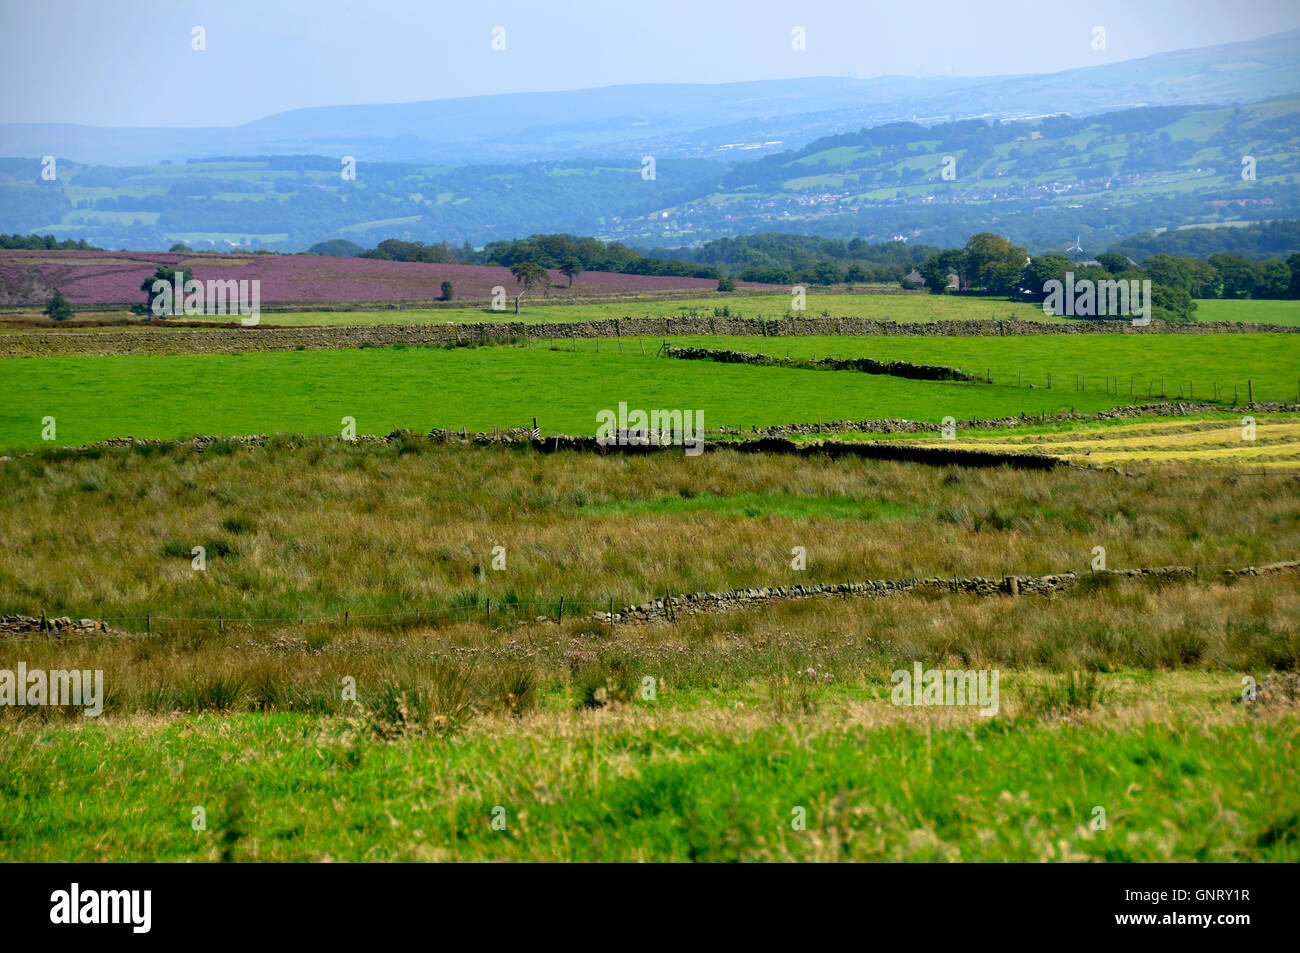
[[[1296,0],[0,0],[5,122],[228,125],[307,105],[646,82],[1048,73],[1300,27]],[[195,26],[207,49],[191,48]],[[506,49],[491,49],[493,27]],[[807,48],[792,49],[792,30]],[[1106,29],[1106,49],[1092,29]]]

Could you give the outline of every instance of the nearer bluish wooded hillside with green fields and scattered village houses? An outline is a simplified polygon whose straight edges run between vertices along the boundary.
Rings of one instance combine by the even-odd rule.
[[[1254,178],[1243,178],[1243,157]],[[534,233],[672,248],[779,231],[1096,254],[1138,233],[1300,217],[1300,95],[1037,122],[896,122],[742,163],[640,156],[447,168],[260,156],[108,166],[0,159],[0,233],[101,247],[303,251]],[[1178,241],[1173,238],[1165,242]],[[346,251],[348,246],[330,246]]]

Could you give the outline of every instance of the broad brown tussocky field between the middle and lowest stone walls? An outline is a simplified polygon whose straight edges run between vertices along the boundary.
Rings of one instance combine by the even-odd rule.
[[[338,632],[486,623],[489,599],[504,625],[562,595],[569,621],[667,592],[1084,572],[1098,545],[1112,568],[1244,566],[1300,551],[1296,484],[1271,480],[316,438],[36,455],[0,464],[0,612]]]

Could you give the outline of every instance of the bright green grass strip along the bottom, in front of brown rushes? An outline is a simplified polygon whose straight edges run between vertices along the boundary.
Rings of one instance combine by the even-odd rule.
[[[0,859],[1300,859],[1294,716],[854,715],[540,716],[391,742],[292,715],[0,729]]]

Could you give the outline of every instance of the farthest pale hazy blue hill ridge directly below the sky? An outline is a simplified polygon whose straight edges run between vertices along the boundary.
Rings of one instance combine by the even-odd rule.
[[[807,78],[636,85],[389,105],[294,109],[230,127],[0,125],[0,156],[155,164],[321,155],[480,164],[575,157],[732,159],[902,120],[1076,116],[1254,101],[1300,91],[1300,30],[1245,43],[1015,77]],[[337,161],[337,160],[335,160]]]

